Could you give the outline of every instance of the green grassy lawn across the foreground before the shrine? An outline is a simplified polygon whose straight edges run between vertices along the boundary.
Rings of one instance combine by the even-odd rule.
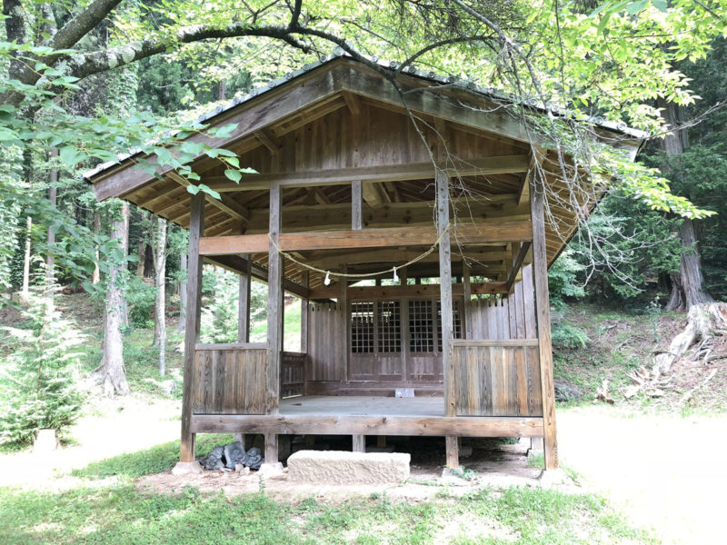
[[[229,437],[202,436],[199,451]],[[193,488],[156,496],[134,479],[174,465],[178,441],[74,471],[73,490],[0,489],[4,544],[65,543],[657,543],[606,500],[590,494],[513,487],[453,497],[394,500],[385,493],[343,502],[289,503],[257,493],[234,498]],[[108,477],[115,477],[109,481]]]

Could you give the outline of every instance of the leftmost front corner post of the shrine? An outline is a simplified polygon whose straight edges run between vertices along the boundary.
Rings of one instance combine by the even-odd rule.
[[[202,258],[199,240],[204,235],[204,193],[192,196],[189,218],[189,260],[187,267],[187,308],[184,324],[184,392],[182,397],[182,445],[179,461],[194,461],[192,433],[192,387],[194,380],[194,345],[199,340],[202,312]]]

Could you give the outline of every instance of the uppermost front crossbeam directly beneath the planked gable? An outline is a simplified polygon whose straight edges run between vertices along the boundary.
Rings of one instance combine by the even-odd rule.
[[[529,160],[527,155],[498,155],[469,159],[447,160],[437,163],[437,168],[450,176],[475,176],[490,174],[524,173]],[[276,172],[248,174],[240,183],[224,176],[205,176],[202,182],[216,192],[227,193],[268,189],[271,183],[281,187],[308,187],[321,185],[346,185],[354,180],[362,182],[398,182],[406,180],[427,180],[434,177],[434,164],[395,163],[371,166],[352,166],[327,170],[303,172]]]

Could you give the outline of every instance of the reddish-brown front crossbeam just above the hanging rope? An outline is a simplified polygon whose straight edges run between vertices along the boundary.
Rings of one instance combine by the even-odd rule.
[[[484,225],[458,225],[452,238],[460,246],[487,243],[529,241],[533,238],[530,222],[515,221]],[[306,250],[346,250],[357,248],[386,248],[398,246],[430,246],[439,234],[431,226],[390,227],[361,231],[311,231],[307,233],[282,233],[279,246],[284,252]],[[202,255],[230,253],[264,253],[269,245],[265,234],[237,234],[205,237],[200,241]]]

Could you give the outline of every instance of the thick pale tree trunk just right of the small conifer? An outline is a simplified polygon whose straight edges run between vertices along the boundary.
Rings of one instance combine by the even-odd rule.
[[[124,372],[124,342],[121,328],[124,325],[124,284],[126,282],[126,243],[129,231],[129,204],[124,203],[121,218],[111,225],[111,239],[124,253],[124,259],[111,259],[109,263],[108,288],[106,292],[106,320],[104,332],[104,359],[96,374],[103,384],[106,395],[129,393]]]

